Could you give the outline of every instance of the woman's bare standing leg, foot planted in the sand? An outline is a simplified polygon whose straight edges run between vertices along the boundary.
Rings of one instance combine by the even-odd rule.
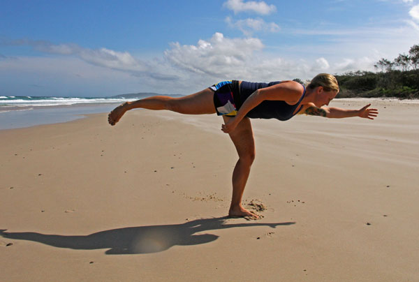
[[[223,116],[224,122],[230,117]],[[256,217],[251,211],[244,209],[242,206],[242,197],[244,187],[249,178],[251,164],[255,158],[255,142],[253,139],[253,131],[251,129],[250,119],[245,117],[233,132],[228,133],[239,155],[235,168],[233,170],[233,195],[231,198],[229,216],[251,216]]]

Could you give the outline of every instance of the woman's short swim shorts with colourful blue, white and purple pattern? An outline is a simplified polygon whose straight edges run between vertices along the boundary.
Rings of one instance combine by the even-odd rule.
[[[210,87],[210,89],[214,90],[216,114],[219,116],[226,115],[227,117],[235,117],[238,110],[237,103],[235,103],[238,88],[239,82],[237,80],[219,82]]]

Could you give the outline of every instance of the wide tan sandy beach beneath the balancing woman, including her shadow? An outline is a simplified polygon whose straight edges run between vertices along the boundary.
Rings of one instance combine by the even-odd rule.
[[[221,117],[0,131],[0,281],[419,281],[419,105],[372,107],[374,121],[252,120],[258,221],[226,218]]]

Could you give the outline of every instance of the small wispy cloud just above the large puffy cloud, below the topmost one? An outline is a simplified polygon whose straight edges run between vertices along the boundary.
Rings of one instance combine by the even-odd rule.
[[[237,20],[233,22],[231,17],[226,18],[226,22],[230,27],[239,29],[245,36],[251,36],[253,31],[260,31],[260,32],[278,32],[279,26],[274,22],[265,22],[264,20],[257,18],[251,19],[248,18],[246,20]]]

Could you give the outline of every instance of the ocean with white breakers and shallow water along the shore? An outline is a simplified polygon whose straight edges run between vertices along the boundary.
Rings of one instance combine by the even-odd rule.
[[[144,98],[144,97],[142,97]],[[0,130],[56,124],[110,112],[136,98],[0,96]]]

